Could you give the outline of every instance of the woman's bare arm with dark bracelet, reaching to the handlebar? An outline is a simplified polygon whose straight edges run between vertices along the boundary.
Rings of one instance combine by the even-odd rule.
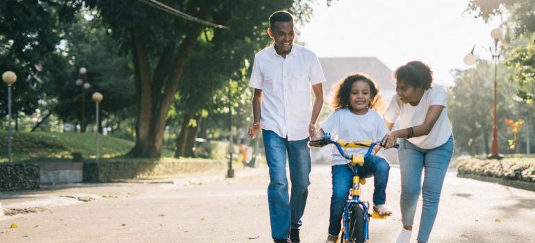
[[[420,137],[420,136],[428,135],[431,132],[431,129],[433,129],[433,126],[435,126],[435,123],[438,120],[438,117],[441,116],[443,109],[444,109],[444,106],[440,106],[440,105],[429,106],[429,110],[427,110],[427,115],[425,115],[424,123],[413,127],[412,137]],[[391,130],[393,124],[390,124],[387,121],[386,126],[388,126],[388,128]],[[403,128],[400,130],[391,131],[383,138],[383,144],[385,144],[386,149],[389,149],[392,146],[394,146],[398,137],[408,137],[408,136],[409,136],[409,128]]]

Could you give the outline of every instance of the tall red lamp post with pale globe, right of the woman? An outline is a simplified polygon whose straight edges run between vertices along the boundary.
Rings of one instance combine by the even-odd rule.
[[[498,150],[498,132],[497,132],[497,112],[496,112],[496,103],[497,103],[497,66],[498,66],[498,60],[500,59],[500,49],[498,48],[498,42],[502,40],[503,32],[501,28],[495,28],[491,31],[491,37],[494,39],[494,49],[491,47],[491,51],[493,51],[493,60],[494,60],[494,104],[493,104],[493,114],[494,114],[494,124],[493,124],[493,144],[492,144],[492,150],[491,150],[491,156],[488,158],[495,158],[499,159],[502,158],[500,156],[500,151]]]

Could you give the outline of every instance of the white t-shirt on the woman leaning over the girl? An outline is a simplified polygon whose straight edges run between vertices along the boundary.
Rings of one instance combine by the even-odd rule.
[[[397,117],[400,117],[402,128],[419,126],[424,123],[429,106],[434,105],[444,106],[444,108],[441,116],[431,128],[431,132],[425,136],[409,138],[409,142],[422,149],[434,149],[447,142],[452,135],[452,124],[447,117],[446,90],[441,85],[433,85],[429,90],[425,90],[418,106],[402,103],[400,97],[395,95],[386,109],[384,118],[386,121],[394,123]]]

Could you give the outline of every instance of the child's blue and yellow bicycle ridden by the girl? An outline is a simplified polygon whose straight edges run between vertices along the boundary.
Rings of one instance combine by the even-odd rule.
[[[372,154],[373,148],[380,145],[381,142],[372,141],[345,141],[345,140],[331,140],[331,135],[325,133],[320,140],[311,140],[308,142],[309,146],[325,146],[327,144],[334,144],[340,155],[349,160],[347,163],[353,170],[353,187],[349,190],[346,206],[343,213],[343,228],[341,242],[348,243],[365,243],[369,240],[368,222],[370,217],[375,219],[386,219],[387,216],[379,215],[377,212],[372,212],[370,215],[370,203],[368,201],[361,201],[361,185],[365,184],[365,178],[360,178],[359,169],[355,165],[363,166],[364,160]],[[366,153],[357,153],[347,155],[342,149],[344,148],[368,148]],[[399,145],[395,144],[395,148]]]

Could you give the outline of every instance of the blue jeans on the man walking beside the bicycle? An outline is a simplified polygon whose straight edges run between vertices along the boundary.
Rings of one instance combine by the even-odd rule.
[[[299,228],[308,196],[308,175],[311,171],[308,138],[288,141],[277,133],[263,130],[265,157],[270,167],[268,203],[270,207],[271,236],[274,240],[288,239],[290,228]],[[286,178],[286,153],[292,182],[291,197],[288,199]]]

